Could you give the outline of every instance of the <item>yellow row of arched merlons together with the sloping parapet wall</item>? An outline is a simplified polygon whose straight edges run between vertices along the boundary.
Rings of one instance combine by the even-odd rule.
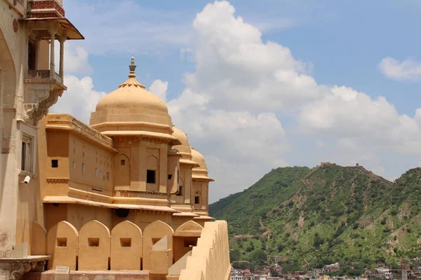
[[[75,275],[78,270],[111,273],[146,270],[155,275],[150,279],[176,280],[182,269],[186,269],[185,274],[196,275],[199,271],[200,276],[184,279],[229,279],[231,265],[225,221],[207,222],[204,228],[187,221],[175,231],[162,221],[150,223],[143,231],[129,221],[109,230],[94,220],[79,231],[71,223],[61,221],[48,232],[39,232],[36,238],[44,239],[46,244],[45,252],[39,253],[51,255],[48,261],[51,270],[44,272],[45,276],[57,266],[68,266]],[[191,271],[194,274],[189,274]]]

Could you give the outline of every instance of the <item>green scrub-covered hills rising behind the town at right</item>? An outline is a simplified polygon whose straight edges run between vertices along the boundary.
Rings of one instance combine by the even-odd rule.
[[[342,262],[361,272],[421,256],[420,198],[421,169],[392,183],[363,167],[285,167],[215,202],[210,215],[228,221],[231,238],[266,231],[232,238],[233,260],[264,251],[286,270]]]

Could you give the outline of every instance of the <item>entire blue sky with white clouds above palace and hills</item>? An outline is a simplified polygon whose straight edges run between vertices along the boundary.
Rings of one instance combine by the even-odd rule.
[[[217,179],[211,201],[247,188],[278,166],[362,162],[394,179],[421,162],[421,111],[415,116],[421,104],[420,0],[64,5],[66,17],[86,37],[67,43],[74,55],[66,62],[67,95],[76,100],[81,92],[89,94],[86,108],[92,111],[98,98],[125,80],[135,55],[140,83],[154,83],[149,90],[159,91],[154,93],[166,99],[175,124],[206,155]],[[259,55],[268,65],[276,63],[260,65]],[[244,62],[248,57],[250,64]],[[202,101],[190,104],[188,98]],[[59,102],[54,110],[88,122],[76,105]],[[392,140],[383,143],[385,138]],[[253,151],[244,152],[248,148]]]

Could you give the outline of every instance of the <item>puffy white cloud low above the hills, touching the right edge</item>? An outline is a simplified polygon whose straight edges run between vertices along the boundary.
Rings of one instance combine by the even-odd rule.
[[[399,114],[385,97],[373,100],[349,87],[333,87],[331,94],[304,106],[298,120],[303,132],[328,135],[341,148],[421,155],[419,118]]]

